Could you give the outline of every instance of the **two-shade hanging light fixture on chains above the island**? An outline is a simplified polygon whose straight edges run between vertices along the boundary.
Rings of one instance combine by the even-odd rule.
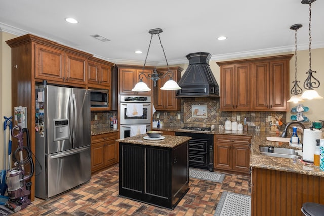
[[[169,80],[163,85],[163,87],[161,87],[161,90],[178,90],[178,89],[181,89],[181,87],[179,87],[179,85],[177,84],[177,82],[173,81],[173,79],[172,79],[173,78],[173,73],[169,69],[167,57],[166,57],[166,54],[164,52],[164,48],[163,48],[163,45],[162,45],[162,42],[161,42],[161,38],[160,38],[160,33],[162,33],[162,32],[163,31],[160,28],[155,28],[155,29],[151,29],[151,30],[148,31],[148,33],[151,34],[151,40],[150,40],[150,44],[148,45],[148,50],[147,50],[147,54],[146,54],[146,58],[145,58],[145,61],[144,61],[144,66],[143,66],[143,71],[144,71],[144,68],[145,68],[145,64],[146,64],[148,52],[149,52],[150,47],[151,47],[152,38],[153,38],[153,35],[155,35],[155,34],[157,34],[157,36],[158,36],[158,38],[160,40],[160,44],[161,44],[161,47],[162,47],[162,51],[163,51],[163,54],[164,54],[164,58],[165,58],[166,63],[167,63],[168,71],[165,74],[158,73],[156,71],[156,68],[155,68],[154,71],[153,71],[153,73],[152,74],[148,74],[147,76],[143,72],[140,73],[138,75],[138,78],[139,78],[140,81],[132,89],[132,91],[134,91],[134,92],[144,92],[144,91],[150,91],[151,90],[147,86],[147,84],[143,82],[143,77],[145,77],[147,79],[153,80],[154,87],[155,87],[156,86],[156,82],[159,79],[162,79],[162,78],[166,77],[167,75],[169,76]]]

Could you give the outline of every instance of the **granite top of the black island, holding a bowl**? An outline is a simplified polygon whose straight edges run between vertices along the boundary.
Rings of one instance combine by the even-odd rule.
[[[132,143],[132,144],[140,144],[140,145],[174,148],[174,147],[191,139],[191,137],[186,137],[186,136],[163,135],[165,137],[165,139],[162,139],[162,140],[145,140],[145,139],[143,139],[143,137],[145,137],[145,136],[147,136],[147,135],[142,134],[142,135],[138,135],[138,136],[118,139],[116,141],[122,142],[122,143]]]

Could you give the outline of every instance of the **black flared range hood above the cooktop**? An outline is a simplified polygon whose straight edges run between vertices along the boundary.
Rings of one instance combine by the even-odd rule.
[[[219,97],[219,86],[209,67],[210,53],[197,52],[186,55],[189,65],[178,85],[177,98]]]

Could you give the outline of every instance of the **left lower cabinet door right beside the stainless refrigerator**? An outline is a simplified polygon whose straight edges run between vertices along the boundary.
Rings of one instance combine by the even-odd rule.
[[[104,167],[105,143],[91,144],[91,171],[94,172]]]

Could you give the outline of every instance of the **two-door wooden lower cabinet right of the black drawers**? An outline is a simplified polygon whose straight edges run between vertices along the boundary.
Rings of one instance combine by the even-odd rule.
[[[214,137],[214,169],[248,174],[251,136],[219,135]]]

